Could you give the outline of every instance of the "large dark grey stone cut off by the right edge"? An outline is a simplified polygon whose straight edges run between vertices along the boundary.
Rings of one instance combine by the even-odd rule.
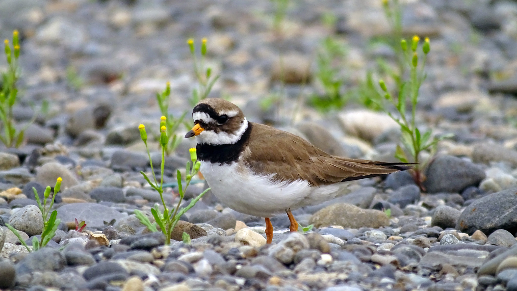
[[[455,228],[472,235],[477,229],[489,235],[497,229],[517,232],[517,188],[479,198],[460,215]]]

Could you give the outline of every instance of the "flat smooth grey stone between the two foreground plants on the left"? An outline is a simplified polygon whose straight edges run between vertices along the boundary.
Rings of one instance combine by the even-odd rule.
[[[74,203],[67,204],[57,209],[57,218],[63,222],[86,221],[88,227],[105,227],[113,219],[124,218],[122,213],[101,204],[96,203]]]

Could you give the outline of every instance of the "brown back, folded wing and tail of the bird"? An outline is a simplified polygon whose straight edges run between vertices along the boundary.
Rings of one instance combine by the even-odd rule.
[[[242,159],[257,174],[278,181],[307,180],[312,186],[381,176],[411,169],[410,163],[386,163],[326,154],[294,134],[252,123]],[[264,146],[271,145],[274,147]]]

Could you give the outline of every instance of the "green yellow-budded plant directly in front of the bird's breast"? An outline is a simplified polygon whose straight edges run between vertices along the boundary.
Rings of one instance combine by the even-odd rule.
[[[162,116],[163,117],[163,116]],[[160,182],[156,179],[155,171],[153,169],[153,161],[151,160],[151,155],[149,152],[149,147],[147,146],[147,132],[145,131],[145,126],[141,124],[138,128],[140,130],[140,137],[142,138],[142,141],[145,144],[145,147],[147,149],[147,156],[149,157],[149,163],[151,166],[151,172],[153,173],[153,180],[154,182],[151,182],[151,180],[147,177],[147,175],[140,171],[140,173],[144,176],[145,180],[149,183],[149,185],[158,191],[161,198],[161,203],[163,205],[163,213],[160,211],[158,204],[156,204],[153,208],[151,208],[151,214],[153,215],[155,222],[151,223],[150,220],[140,211],[140,210],[134,210],[134,213],[137,218],[140,219],[140,222],[147,226],[149,231],[151,232],[157,232],[158,227],[160,228],[160,231],[165,235],[165,244],[171,244],[171,233],[176,226],[176,223],[178,223],[179,218],[185,214],[190,208],[194,207],[194,205],[205,195],[205,193],[210,190],[210,188],[203,191],[201,194],[199,194],[197,197],[195,197],[190,204],[187,207],[179,208],[181,205],[181,202],[183,201],[183,197],[185,194],[185,191],[187,190],[187,187],[189,187],[190,181],[192,180],[192,177],[199,172],[199,168],[201,166],[201,162],[197,161],[197,154],[196,149],[191,148],[190,151],[190,160],[187,162],[186,166],[186,172],[187,177],[185,179],[185,187],[183,187],[183,183],[181,182],[181,173],[177,172],[177,181],[178,181],[178,194],[179,194],[179,201],[175,208],[169,209],[167,205],[165,204],[165,200],[163,199],[163,173],[164,173],[164,166],[165,166],[165,146],[169,142],[169,137],[167,136],[167,128],[166,128],[166,121],[161,120],[160,122],[160,145],[161,148],[161,178]],[[191,164],[192,162],[192,164]],[[174,196],[173,196],[174,197]]]

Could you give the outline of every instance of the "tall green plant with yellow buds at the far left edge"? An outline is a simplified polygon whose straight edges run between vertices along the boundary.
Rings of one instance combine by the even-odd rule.
[[[31,122],[21,129],[17,129],[12,117],[12,107],[18,101],[18,88],[16,82],[20,76],[20,43],[18,30],[12,33],[12,49],[9,40],[5,40],[5,55],[7,58],[7,72],[2,73],[2,90],[0,91],[0,120],[4,133],[0,134],[0,141],[6,147],[19,147],[23,142],[23,134],[29,125],[36,119],[36,114]]]

